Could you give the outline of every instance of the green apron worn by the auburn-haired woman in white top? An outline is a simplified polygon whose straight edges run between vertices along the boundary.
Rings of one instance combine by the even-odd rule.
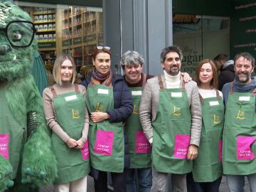
[[[193,160],[193,180],[195,182],[212,182],[222,176],[222,134],[224,123],[223,100],[216,91],[216,97],[203,99],[203,124],[198,156]]]

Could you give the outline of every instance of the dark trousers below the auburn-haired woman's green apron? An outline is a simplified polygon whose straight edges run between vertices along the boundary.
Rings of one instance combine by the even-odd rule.
[[[213,182],[195,182],[192,173],[187,174],[186,183],[188,192],[218,192],[221,182],[221,176]]]

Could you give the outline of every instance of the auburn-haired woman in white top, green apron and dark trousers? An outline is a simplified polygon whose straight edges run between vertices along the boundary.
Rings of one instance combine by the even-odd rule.
[[[202,60],[196,69],[196,82],[202,105],[202,132],[198,157],[187,175],[188,192],[218,192],[222,168],[224,122],[223,94],[218,91],[218,74],[212,60]]]

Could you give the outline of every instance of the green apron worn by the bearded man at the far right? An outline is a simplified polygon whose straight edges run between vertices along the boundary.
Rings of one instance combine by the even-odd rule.
[[[255,91],[233,92],[233,82],[230,83],[223,130],[224,174],[256,173]]]

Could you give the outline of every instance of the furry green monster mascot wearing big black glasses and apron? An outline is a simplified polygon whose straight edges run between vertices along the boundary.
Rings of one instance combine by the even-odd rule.
[[[0,192],[31,191],[57,175],[41,96],[29,73],[34,34],[30,16],[0,0]]]

